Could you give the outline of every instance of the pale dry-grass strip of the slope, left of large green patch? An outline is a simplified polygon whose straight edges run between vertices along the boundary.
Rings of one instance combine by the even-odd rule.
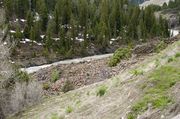
[[[149,72],[157,68],[157,61],[159,66],[165,65],[179,51],[180,41],[177,41],[158,55],[149,56],[109,80],[46,99],[17,118],[51,119],[52,114],[57,114],[66,119],[125,119],[131,105],[141,96],[140,84]],[[132,71],[137,69],[144,74],[133,75]],[[103,97],[98,97],[96,93],[102,85],[108,90]],[[72,108],[72,113],[66,112],[68,106]]]

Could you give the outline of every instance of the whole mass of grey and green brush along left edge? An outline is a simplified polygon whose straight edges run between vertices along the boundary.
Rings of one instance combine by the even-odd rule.
[[[8,50],[0,40],[0,118],[6,118],[38,103],[42,96],[41,85],[31,81],[26,72],[13,68],[9,63]]]

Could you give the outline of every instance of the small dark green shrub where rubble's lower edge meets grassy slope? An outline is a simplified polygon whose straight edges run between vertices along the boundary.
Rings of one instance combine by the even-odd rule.
[[[74,90],[74,85],[70,80],[66,80],[63,87],[62,87],[62,91],[64,93],[66,93],[66,92],[71,91],[71,90]]]

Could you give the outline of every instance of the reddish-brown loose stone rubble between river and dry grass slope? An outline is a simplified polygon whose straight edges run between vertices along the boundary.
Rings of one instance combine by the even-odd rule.
[[[49,82],[51,84],[51,88],[46,93],[55,94],[61,91],[66,80],[70,80],[76,89],[85,85],[100,82],[119,74],[119,72],[129,68],[133,64],[136,64],[138,61],[144,60],[144,56],[136,58],[133,57],[128,61],[124,60],[116,67],[109,67],[107,63],[108,60],[109,58],[105,58],[78,64],[72,63],[49,67],[34,73],[33,77],[42,83]],[[58,70],[60,72],[60,76],[59,80],[52,83],[51,76],[54,70]]]

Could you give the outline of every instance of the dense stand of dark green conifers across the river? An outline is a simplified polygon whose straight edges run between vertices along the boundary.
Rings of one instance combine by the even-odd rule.
[[[25,38],[40,42],[40,35],[45,34],[46,47],[63,55],[71,54],[74,49],[85,54],[83,51],[91,42],[103,52],[111,38],[122,40],[118,40],[121,44],[169,36],[167,21],[154,15],[160,7],[140,9],[129,0],[5,0],[4,3],[7,20],[26,15],[27,22],[21,25],[25,27]],[[167,8],[180,7],[179,4],[179,0],[175,0]],[[165,9],[166,4],[163,7]],[[37,16],[39,20],[34,18]],[[75,41],[78,34],[82,34],[80,37],[85,42]],[[54,37],[60,40],[54,41]]]

